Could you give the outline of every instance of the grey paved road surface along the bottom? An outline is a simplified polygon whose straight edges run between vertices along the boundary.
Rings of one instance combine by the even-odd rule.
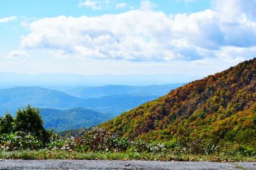
[[[141,160],[0,160],[0,169],[256,169],[255,164]]]

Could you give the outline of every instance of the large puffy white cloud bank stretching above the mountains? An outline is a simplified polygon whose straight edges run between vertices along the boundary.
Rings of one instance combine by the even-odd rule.
[[[228,1],[232,7],[236,0]],[[222,1],[214,3],[214,10],[170,16],[147,7],[99,17],[42,18],[29,23],[31,32],[22,39],[22,47],[63,58],[161,61],[255,57],[256,22],[243,10],[228,13],[221,11]]]

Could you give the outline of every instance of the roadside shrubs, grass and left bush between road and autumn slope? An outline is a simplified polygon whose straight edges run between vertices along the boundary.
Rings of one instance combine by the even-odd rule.
[[[100,159],[100,160],[256,160],[255,133],[241,139],[201,141],[143,141],[120,138],[99,127],[60,136],[44,128],[40,110],[27,106],[16,117],[0,118],[1,159]],[[64,135],[64,134],[62,134]],[[248,142],[244,143],[244,138]],[[186,140],[185,140],[186,139]]]

